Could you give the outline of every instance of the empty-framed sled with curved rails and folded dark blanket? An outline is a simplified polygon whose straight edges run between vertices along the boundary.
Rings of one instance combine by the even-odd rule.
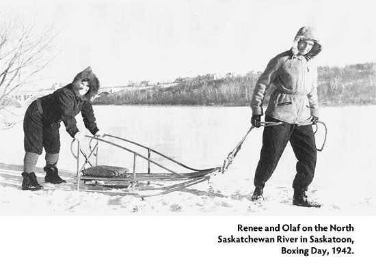
[[[189,186],[209,180],[220,171],[220,167],[210,169],[194,169],[183,163],[148,148],[144,145],[129,141],[113,135],[105,135],[103,139],[91,138],[88,151],[83,150],[79,141],[73,140],[70,149],[77,160],[77,191],[96,191],[111,193],[112,195],[134,195],[136,197],[150,197],[162,195],[186,189]],[[105,143],[116,148],[116,155],[122,157],[125,151],[133,156],[132,169],[126,167],[113,167],[109,165],[98,165],[98,146]],[[77,149],[75,150],[75,145]],[[94,146],[92,146],[94,145]],[[130,145],[130,147],[128,146]],[[135,148],[142,152],[136,152]],[[151,157],[153,155],[153,158]],[[157,160],[154,158],[157,156]],[[142,158],[146,161],[147,169],[139,172],[137,161]],[[94,162],[93,162],[94,161]],[[165,163],[172,165],[167,167]],[[151,166],[163,172],[152,173]],[[178,169],[175,169],[178,168]],[[178,173],[178,171],[187,171]]]

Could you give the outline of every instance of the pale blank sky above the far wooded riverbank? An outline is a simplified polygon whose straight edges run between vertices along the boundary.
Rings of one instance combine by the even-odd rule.
[[[3,0],[0,0],[3,1]],[[122,0],[7,3],[41,25],[54,23],[50,83],[69,83],[92,66],[103,86],[178,76],[264,70],[291,48],[297,30],[316,27],[321,66],[376,61],[371,0]]]

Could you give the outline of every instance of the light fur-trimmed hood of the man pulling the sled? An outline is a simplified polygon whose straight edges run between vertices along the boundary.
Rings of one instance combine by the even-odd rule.
[[[297,31],[297,35],[295,36],[293,47],[291,51],[293,55],[297,55],[299,50],[297,48],[297,44],[300,40],[313,40],[314,44],[309,53],[304,55],[307,59],[313,59],[316,55],[318,55],[321,50],[322,46],[317,36],[317,31],[313,27],[301,27],[299,31]]]

